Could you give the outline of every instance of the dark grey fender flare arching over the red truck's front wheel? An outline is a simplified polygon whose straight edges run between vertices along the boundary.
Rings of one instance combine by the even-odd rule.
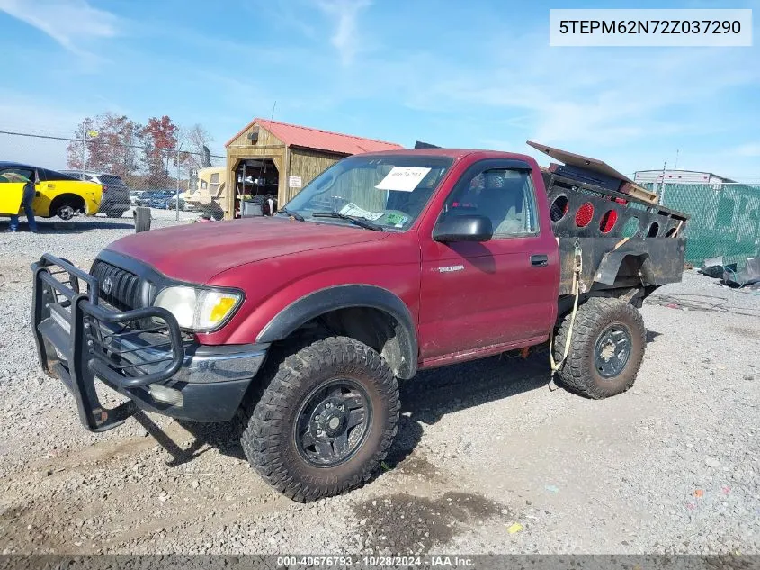
[[[397,375],[403,379],[414,376],[418,344],[412,313],[396,294],[377,285],[335,285],[301,297],[277,313],[258,334],[256,342],[271,343],[286,339],[301,325],[319,315],[351,307],[377,309],[393,318],[403,357]]]

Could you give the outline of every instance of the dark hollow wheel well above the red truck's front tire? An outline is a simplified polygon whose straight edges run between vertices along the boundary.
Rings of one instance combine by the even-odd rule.
[[[320,314],[303,323],[287,339],[275,344],[287,345],[290,352],[318,339],[348,337],[378,352],[393,375],[407,378],[404,371],[409,368],[416,370],[416,362],[406,362],[408,348],[403,344],[405,340],[401,330],[401,323],[388,312],[372,307],[346,307]]]

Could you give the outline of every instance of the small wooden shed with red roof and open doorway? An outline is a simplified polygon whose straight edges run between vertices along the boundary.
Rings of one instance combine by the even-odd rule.
[[[341,158],[402,148],[384,140],[258,118],[225,147],[228,186],[235,188],[226,194],[227,217],[234,217],[244,198],[276,197],[277,204],[285,204]]]

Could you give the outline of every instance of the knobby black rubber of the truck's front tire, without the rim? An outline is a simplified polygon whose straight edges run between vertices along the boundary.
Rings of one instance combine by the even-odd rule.
[[[320,339],[291,356],[270,355],[263,393],[244,404],[241,443],[266,483],[298,502],[316,501],[361,487],[375,473],[398,429],[398,384],[380,355],[358,340]],[[363,443],[336,466],[314,466],[300,454],[295,422],[317,386],[333,378],[360,385],[371,403]]]

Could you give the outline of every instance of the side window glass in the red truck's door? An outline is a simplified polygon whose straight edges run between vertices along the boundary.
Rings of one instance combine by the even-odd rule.
[[[531,171],[470,169],[443,206],[443,216],[466,214],[490,219],[494,238],[535,235],[539,227]]]

